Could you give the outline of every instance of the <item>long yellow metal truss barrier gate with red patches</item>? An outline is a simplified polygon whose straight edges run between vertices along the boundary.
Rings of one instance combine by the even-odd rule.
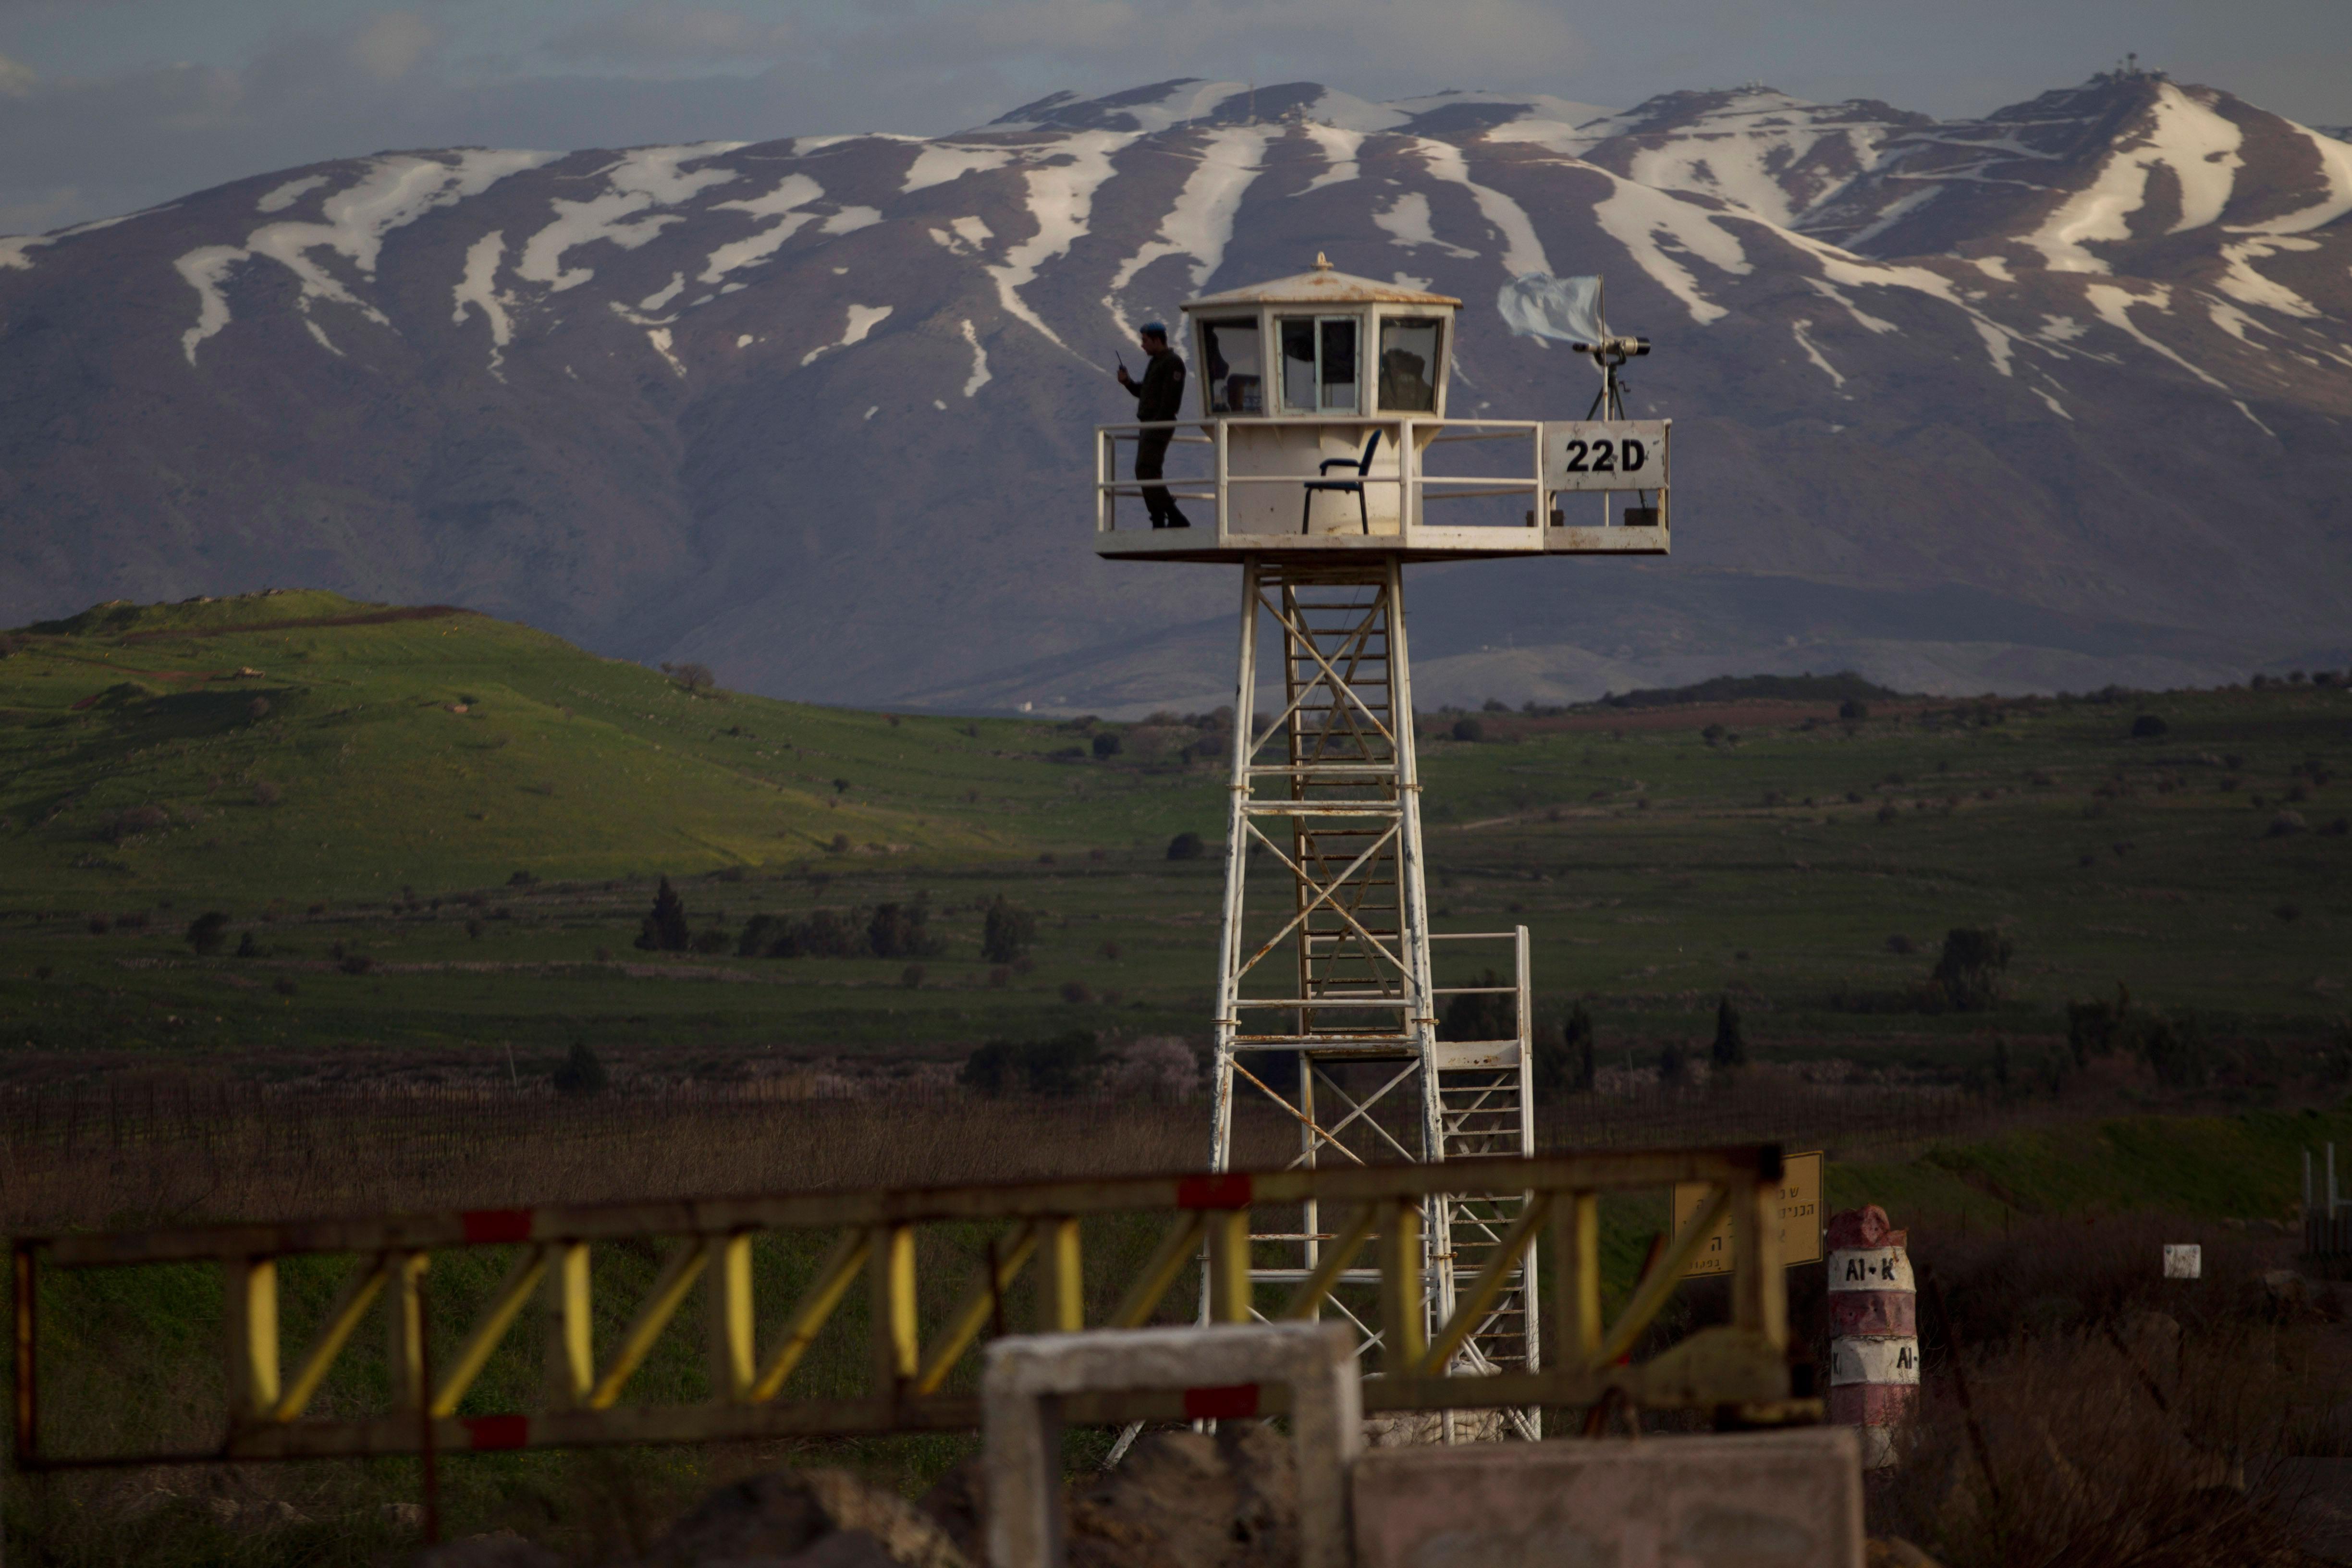
[[[588,1443],[682,1443],[809,1434],[877,1434],[978,1427],[978,1399],[948,1392],[988,1331],[1002,1333],[1004,1291],[1035,1267],[1040,1331],[1080,1331],[1084,1258],[1080,1220],[1171,1215],[1150,1258],[1127,1276],[1108,1321],[1152,1321],[1162,1300],[1207,1255],[1216,1321],[1317,1316],[1324,1295],[1374,1246],[1381,1274],[1378,1368],[1367,1368],[1367,1410],[1494,1406],[1590,1406],[1616,1389],[1635,1406],[1738,1406],[1755,1420],[1795,1418],[1785,1363],[1785,1286],[1773,1227],[1780,1152],[1764,1147],[1458,1159],[1416,1166],[1103,1178],[993,1187],[595,1204],[318,1220],[209,1225],[120,1234],[19,1237],[14,1251],[16,1465],[66,1469],[198,1460],[289,1460],[433,1450],[555,1448]],[[1599,1194],[1703,1182],[1708,1204],[1677,1241],[1656,1248],[1616,1321],[1602,1314]],[[1423,1213],[1456,1190],[1524,1192],[1510,1229],[1430,1335],[1432,1281],[1423,1276]],[[1303,1206],[1315,1204],[1312,1211]],[[1319,1262],[1298,1281],[1251,1276],[1251,1208],[1298,1206],[1336,1220]],[[1644,1328],[1682,1281],[1689,1253],[1731,1220],[1738,1269],[1731,1321],[1632,1363]],[[915,1234],[922,1225],[993,1225],[978,1279],[941,1319],[917,1309]],[[1552,1349],[1543,1371],[1449,1375],[1465,1335],[1491,1312],[1538,1232],[1550,1229]],[[753,1239],[762,1232],[835,1232],[800,1300],[767,1326],[753,1300]],[[597,1354],[590,1248],[675,1239],[619,1342]],[[423,1288],[430,1258],[456,1248],[513,1248],[454,1352],[428,1345]],[[355,1265],[310,1345],[282,1359],[278,1265],[306,1253],[350,1253]],[[226,1276],[228,1422],[209,1448],[172,1453],[49,1453],[42,1443],[40,1321],[45,1269],[219,1262]],[[793,1396],[793,1373],[826,1321],[868,1291],[870,1385],[863,1396]],[[713,1396],[696,1403],[626,1403],[630,1378],[703,1286],[703,1354]],[[1287,1288],[1284,1288],[1287,1286]],[[539,1302],[546,1338],[541,1408],[461,1413],[499,1345]],[[376,1415],[310,1415],[310,1403],[360,1324],[376,1312],[388,1331],[390,1394]],[[1174,1316],[1190,1319],[1178,1302]],[[1371,1354],[1374,1347],[1367,1347]],[[969,1382],[969,1380],[967,1380]],[[1073,1422],[1275,1415],[1282,1389],[1094,1394],[1068,1401]]]

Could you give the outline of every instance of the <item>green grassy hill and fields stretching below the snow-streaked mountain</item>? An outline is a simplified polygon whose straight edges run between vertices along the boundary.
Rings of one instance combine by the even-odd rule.
[[[1207,1016],[1216,715],[809,708],[313,592],[101,607],[7,644],[9,1070],[120,1051],[543,1072],[590,1039],[708,1072]],[[1477,741],[1423,715],[1437,929],[1526,924],[1545,1009],[1590,999],[1604,1058],[1703,1037],[1722,994],[1766,1058],[1886,1067],[1983,1065],[1997,1034],[2037,1058],[2067,999],[2117,983],[2232,1037],[2305,1048],[2338,1027],[2343,684],[1858,719],[1788,682],[1743,689],[1783,696],[1486,712]],[[2143,715],[2164,733],[2133,736]],[[1207,858],[1167,858],[1185,830]],[[724,952],[633,947],[661,875]],[[1040,917],[1018,966],[978,954],[997,896]],[[946,940],[920,973],[734,957],[753,914],[915,900]],[[219,957],[183,940],[207,910],[228,917]],[[1905,999],[1952,926],[2013,943],[1992,1013]]]

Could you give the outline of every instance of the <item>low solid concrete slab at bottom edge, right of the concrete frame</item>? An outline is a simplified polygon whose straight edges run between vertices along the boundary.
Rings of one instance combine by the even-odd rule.
[[[1357,1568],[1863,1568],[1844,1427],[1381,1448],[1352,1493]]]

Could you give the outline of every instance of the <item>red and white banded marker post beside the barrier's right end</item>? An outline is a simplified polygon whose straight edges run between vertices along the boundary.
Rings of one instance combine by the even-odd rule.
[[[1832,1213],[1830,1420],[1863,1429],[1863,1467],[1896,1462],[1896,1427],[1919,1406],[1919,1293],[1907,1232],[1877,1204]]]

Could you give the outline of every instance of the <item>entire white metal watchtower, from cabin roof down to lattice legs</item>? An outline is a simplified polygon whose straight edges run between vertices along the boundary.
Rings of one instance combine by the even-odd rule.
[[[1197,418],[1096,430],[1098,555],[1242,567],[1214,1168],[1232,1157],[1237,1081],[1298,1126],[1303,1166],[1534,1145],[1526,929],[1432,933],[1428,922],[1404,564],[1665,555],[1668,421],[1449,418],[1458,310],[1458,299],[1350,277],[1317,256],[1310,273],[1183,306]],[[1606,329],[1583,336],[1595,341],[1576,348],[1604,371],[1639,353]],[[1599,411],[1616,414],[1606,376],[1604,388]],[[1190,503],[1188,529],[1145,527],[1143,484],[1122,463],[1145,430],[1171,437],[1162,484]],[[1573,491],[1599,505],[1581,505],[1569,527]],[[1279,677],[1261,668],[1261,649]],[[1275,677],[1270,715],[1261,677]],[[1489,954],[1477,969],[1496,978],[1442,985],[1432,943],[1470,964]],[[1458,1013],[1498,1037],[1439,1041],[1451,999],[1486,994],[1508,1001]],[[1432,1201],[1425,1321],[1451,1321],[1519,1204],[1482,1192]],[[1376,1321],[1364,1291],[1378,1274],[1352,1255],[1324,1262],[1327,1244],[1355,1253],[1364,1234],[1327,1222],[1348,1218],[1310,1206],[1261,1234],[1258,1255],[1279,1262],[1254,1274],[1279,1284],[1338,1267],[1331,1302],[1359,1326]],[[1534,1371],[1531,1279],[1534,1253],[1465,1342],[1428,1354],[1465,1371]],[[1538,1436],[1534,1410],[1512,1420]]]

